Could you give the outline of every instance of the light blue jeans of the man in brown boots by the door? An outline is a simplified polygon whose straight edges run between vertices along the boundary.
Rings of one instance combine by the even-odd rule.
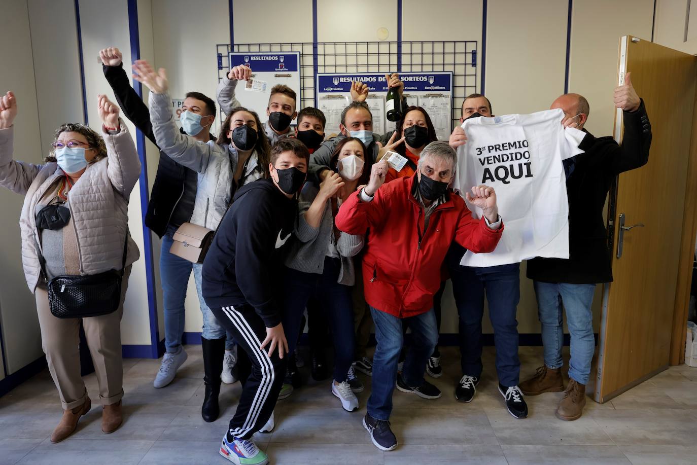
[[[590,363],[595,352],[593,335],[593,303],[595,284],[553,284],[535,281],[537,312],[542,323],[544,365],[560,368],[564,330],[562,328],[562,305],[566,309],[567,326],[571,334],[571,360],[569,378],[577,383],[588,384]]]

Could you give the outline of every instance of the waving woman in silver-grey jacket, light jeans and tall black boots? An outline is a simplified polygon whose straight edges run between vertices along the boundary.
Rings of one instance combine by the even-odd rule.
[[[201,142],[181,134],[174,123],[171,98],[164,69],[160,73],[149,63],[133,65],[136,79],[151,89],[148,107],[153,134],[160,151],[179,164],[197,171],[198,188],[194,201],[193,224],[215,230],[232,201],[236,189],[259,178],[268,178],[270,147],[261,132],[256,113],[245,108],[232,109],[225,119],[217,141]],[[194,264],[194,281],[199,294],[204,326],[201,333],[206,393],[201,416],[207,422],[220,414],[218,394],[226,348],[225,328],[210,311],[201,291],[201,264]],[[232,337],[227,337],[232,340]]]

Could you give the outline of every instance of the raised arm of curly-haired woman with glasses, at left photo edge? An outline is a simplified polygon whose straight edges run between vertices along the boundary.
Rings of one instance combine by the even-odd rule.
[[[24,195],[29,190],[41,165],[13,160],[12,127],[17,116],[17,98],[12,92],[0,96],[0,185],[17,194]]]

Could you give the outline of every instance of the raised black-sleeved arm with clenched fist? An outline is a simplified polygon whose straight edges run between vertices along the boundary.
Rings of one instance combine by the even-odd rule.
[[[131,86],[130,79],[123,69],[121,50],[116,47],[107,47],[100,50],[99,56],[102,59],[104,77],[107,78],[109,86],[114,91],[116,102],[121,107],[123,116],[141,130],[153,144],[157,144],[148,107]]]

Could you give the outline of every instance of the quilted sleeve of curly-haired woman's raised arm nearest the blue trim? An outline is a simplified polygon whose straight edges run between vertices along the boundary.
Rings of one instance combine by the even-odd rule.
[[[119,118],[118,123],[119,132],[116,134],[104,132],[102,125],[102,137],[107,144],[109,181],[112,181],[114,188],[128,199],[140,176],[140,158],[123,119]]]

